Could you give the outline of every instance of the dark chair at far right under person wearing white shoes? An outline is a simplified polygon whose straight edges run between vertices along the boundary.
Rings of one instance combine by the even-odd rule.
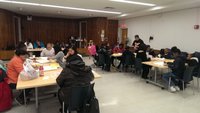
[[[189,66],[184,71],[183,78],[175,78],[175,79],[182,82],[183,90],[185,90],[185,83],[189,83],[190,81],[193,80],[192,75],[193,75],[193,71],[194,71],[195,68],[196,68],[196,66]],[[170,86],[171,86],[171,81],[172,81],[172,77],[169,78],[168,88],[170,88]],[[192,85],[193,85],[192,87],[193,87],[193,93],[194,93],[194,81],[193,81]]]

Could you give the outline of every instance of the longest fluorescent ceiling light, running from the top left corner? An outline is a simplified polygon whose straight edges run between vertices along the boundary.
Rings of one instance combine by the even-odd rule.
[[[76,8],[76,7],[65,7],[65,6],[50,5],[50,4],[39,4],[39,3],[32,3],[32,2],[21,2],[21,1],[11,1],[11,0],[0,0],[0,2],[22,4],[22,5],[31,5],[31,6],[50,7],[50,8],[58,8],[58,9],[77,10],[77,11],[97,12],[97,13],[121,14],[121,12],[114,12],[114,11],[84,9],[84,8]]]

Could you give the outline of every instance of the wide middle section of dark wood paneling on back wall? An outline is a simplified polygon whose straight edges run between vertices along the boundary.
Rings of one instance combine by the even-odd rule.
[[[27,21],[26,17],[22,17],[21,24],[24,41],[68,42],[71,36],[79,36],[78,20],[33,17],[32,21]]]

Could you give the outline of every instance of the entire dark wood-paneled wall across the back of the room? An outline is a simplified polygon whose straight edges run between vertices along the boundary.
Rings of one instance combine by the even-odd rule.
[[[9,45],[15,45],[13,17],[16,15],[0,9],[0,50]],[[86,21],[88,41],[93,40],[95,44],[100,45],[102,43],[101,32],[104,30],[110,45],[117,43],[118,21],[108,20],[106,17],[59,19],[33,16],[32,21],[27,21],[26,16],[17,16],[21,18],[22,41],[39,39],[44,43],[68,42],[71,36],[79,37],[79,22]]]

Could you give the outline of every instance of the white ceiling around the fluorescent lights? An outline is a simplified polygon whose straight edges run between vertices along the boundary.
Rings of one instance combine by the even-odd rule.
[[[156,4],[156,6],[165,7],[164,9],[156,11],[150,11],[150,9],[153,8],[150,6],[118,3],[109,0],[16,0],[16,1],[95,9],[95,10],[116,11],[116,12],[122,12],[122,14],[129,14],[129,15],[126,17],[119,17],[120,16],[119,14],[94,13],[86,11],[75,11],[67,9],[48,8],[41,6],[30,6],[30,5],[11,4],[2,2],[0,2],[0,8],[20,13],[23,15],[35,15],[35,16],[47,16],[47,17],[59,17],[59,18],[108,17],[112,19],[125,19],[125,18],[150,15],[160,12],[166,12],[166,11],[200,7],[200,0],[134,0],[138,2],[153,3]],[[114,7],[115,9],[104,9],[105,7]]]

